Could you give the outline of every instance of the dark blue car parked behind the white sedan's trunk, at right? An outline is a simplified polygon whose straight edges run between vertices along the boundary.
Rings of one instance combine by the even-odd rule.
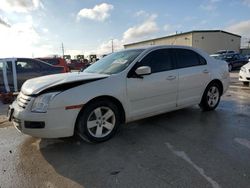
[[[220,55],[215,58],[226,61],[228,63],[229,71],[240,68],[241,66],[248,63],[248,59],[239,53]]]

